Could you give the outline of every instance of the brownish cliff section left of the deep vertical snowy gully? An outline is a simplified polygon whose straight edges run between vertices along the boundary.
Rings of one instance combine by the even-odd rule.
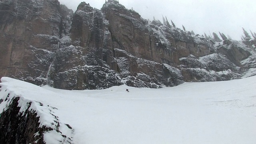
[[[44,84],[65,29],[58,0],[2,0],[0,9],[0,77]]]

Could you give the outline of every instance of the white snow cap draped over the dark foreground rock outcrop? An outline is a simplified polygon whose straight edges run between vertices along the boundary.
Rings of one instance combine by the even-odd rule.
[[[15,98],[18,98],[18,107],[20,107],[19,113],[21,116],[28,115],[30,113],[36,113],[36,117],[39,117],[39,129],[43,128],[46,131],[42,136],[40,132],[34,133],[34,137],[39,136],[34,140],[37,143],[40,138],[43,137],[46,144],[71,144],[74,129],[55,114],[58,108],[49,104],[44,100],[44,96],[52,95],[54,98],[60,98],[60,96],[54,92],[45,90],[34,84],[15,80],[8,77],[2,77],[0,83],[0,116],[2,112],[6,111]],[[28,89],[27,89],[28,88]]]

